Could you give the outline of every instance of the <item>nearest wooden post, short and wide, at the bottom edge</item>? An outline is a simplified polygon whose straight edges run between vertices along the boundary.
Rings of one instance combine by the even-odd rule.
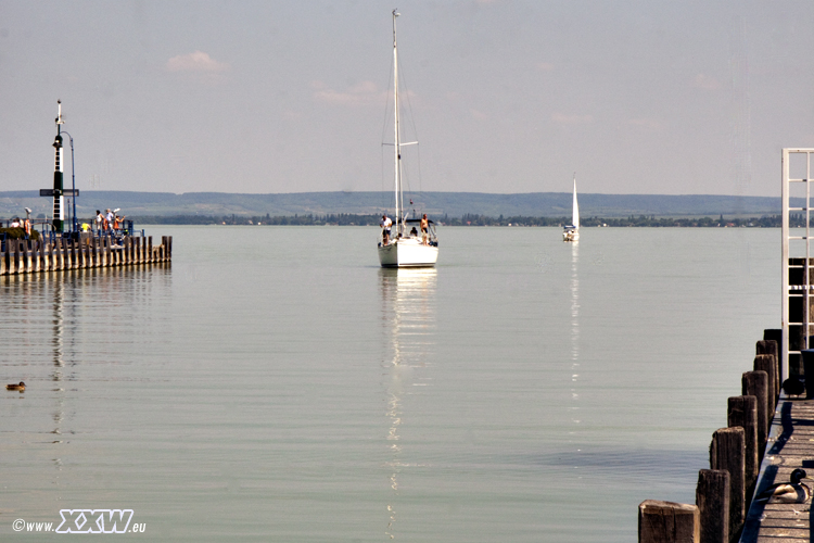
[[[645,500],[639,504],[639,543],[700,543],[698,507]]]

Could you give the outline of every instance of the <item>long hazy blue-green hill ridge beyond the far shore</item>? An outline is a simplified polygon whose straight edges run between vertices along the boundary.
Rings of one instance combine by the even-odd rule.
[[[417,212],[431,216],[459,217],[465,213],[504,216],[570,216],[571,193],[531,192],[492,194],[483,192],[421,192],[411,195]],[[407,199],[407,197],[405,197]],[[68,203],[68,199],[66,199]],[[96,210],[120,207],[128,216],[173,215],[303,215],[328,213],[377,214],[393,206],[391,192],[297,192],[284,194],[233,194],[225,192],[129,192],[81,191],[76,199],[77,215],[92,216]],[[0,192],[0,218],[25,214],[51,213],[51,199],[38,191]],[[711,194],[580,194],[584,217],[626,217],[656,215],[760,216],[780,213],[780,199]]]

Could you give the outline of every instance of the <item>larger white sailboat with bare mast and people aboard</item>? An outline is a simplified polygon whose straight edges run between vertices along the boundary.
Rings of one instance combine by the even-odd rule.
[[[393,10],[393,100],[394,100],[394,163],[395,163],[395,215],[393,232],[379,241],[379,263],[382,267],[428,267],[438,260],[438,239],[435,224],[429,220],[427,232],[418,231],[421,219],[409,218],[404,207],[402,188],[402,147],[416,142],[403,142],[398,118],[398,49],[396,46],[396,17]],[[408,232],[407,229],[410,228]]]

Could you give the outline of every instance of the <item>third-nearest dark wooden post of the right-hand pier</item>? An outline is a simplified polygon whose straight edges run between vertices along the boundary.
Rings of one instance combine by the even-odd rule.
[[[743,454],[745,431],[740,427],[721,428],[712,434],[710,469],[729,472],[729,533],[743,525]]]

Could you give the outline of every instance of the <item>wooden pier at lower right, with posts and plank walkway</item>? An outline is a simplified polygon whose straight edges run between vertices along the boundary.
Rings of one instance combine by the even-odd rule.
[[[814,475],[814,400],[780,394],[780,332],[765,330],[752,370],[741,376],[742,395],[728,400],[727,427],[712,434],[710,469],[699,470],[696,503],[643,502],[639,543],[812,541],[810,500],[753,501],[789,482],[794,468],[813,468]]]

